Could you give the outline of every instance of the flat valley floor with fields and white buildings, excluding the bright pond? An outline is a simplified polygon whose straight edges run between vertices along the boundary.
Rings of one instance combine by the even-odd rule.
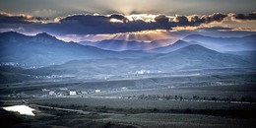
[[[145,89],[148,84],[151,88]],[[35,116],[1,109],[0,123],[6,127],[256,126],[255,74],[45,85],[2,86],[1,107],[25,104],[35,109]],[[38,95],[44,93],[41,89],[59,88],[81,92],[74,96]]]

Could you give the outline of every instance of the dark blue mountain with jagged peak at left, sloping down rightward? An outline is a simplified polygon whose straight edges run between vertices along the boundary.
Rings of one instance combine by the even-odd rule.
[[[79,59],[133,58],[146,54],[139,51],[115,52],[65,42],[47,33],[29,36],[18,32],[0,33],[0,51],[1,63],[19,63],[25,66],[61,64]]]

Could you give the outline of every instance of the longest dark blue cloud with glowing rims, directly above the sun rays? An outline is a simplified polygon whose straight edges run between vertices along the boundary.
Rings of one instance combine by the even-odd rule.
[[[190,17],[190,16],[189,16]],[[176,16],[173,21],[169,16],[158,15],[153,20],[146,22],[141,19],[129,20],[121,14],[112,15],[74,15],[59,18],[58,23],[45,25],[47,30],[53,32],[64,32],[72,34],[96,34],[96,33],[116,33],[116,32],[138,32],[147,30],[171,30],[172,27],[199,26],[212,22],[222,22],[225,14],[217,13],[210,16],[193,16],[188,20],[186,16]],[[118,22],[111,22],[111,20]]]

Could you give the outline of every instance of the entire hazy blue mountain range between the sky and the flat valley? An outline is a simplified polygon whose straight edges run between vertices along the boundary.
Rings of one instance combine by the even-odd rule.
[[[14,81],[16,79],[11,78],[29,80],[31,77],[28,76],[45,75],[98,79],[105,76],[129,76],[138,72],[174,73],[205,69],[255,68],[254,47],[242,47],[247,42],[254,45],[254,37],[255,35],[240,38],[189,35],[183,38],[184,40],[153,49],[111,51],[76,42],[65,42],[47,33],[31,36],[18,32],[3,32],[0,33],[0,77]],[[211,41],[204,41],[206,38]],[[217,41],[214,41],[215,39]],[[221,40],[224,40],[224,44]],[[229,42],[231,40],[234,41]],[[131,46],[136,46],[136,43]],[[215,49],[232,43],[240,47],[224,52]],[[208,48],[211,45],[214,47]],[[17,65],[10,67],[10,64]]]

